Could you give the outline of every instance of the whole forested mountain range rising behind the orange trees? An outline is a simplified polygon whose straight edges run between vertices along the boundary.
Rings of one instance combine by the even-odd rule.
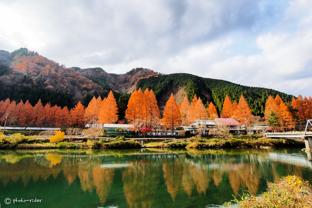
[[[66,68],[27,48],[11,53],[0,50],[0,87],[0,100],[29,100],[34,106],[41,99],[44,105],[51,103],[52,106],[69,108],[79,101],[87,106],[93,96],[104,98],[112,90],[120,120],[125,116],[130,93],[139,88],[154,91],[161,111],[171,93],[178,104],[184,96],[192,100],[196,94],[204,103],[213,102],[219,113],[226,95],[238,102],[243,94],[254,115],[263,115],[269,95],[279,94],[284,102],[291,102],[292,99],[292,95],[272,89],[242,86],[186,73],[165,75],[150,69],[135,68],[125,74],[113,74],[100,67]]]

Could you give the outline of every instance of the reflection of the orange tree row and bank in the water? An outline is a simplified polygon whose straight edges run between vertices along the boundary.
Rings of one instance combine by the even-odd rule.
[[[312,165],[304,154],[256,149],[5,151],[0,152],[0,170],[4,186],[18,180],[27,186],[30,181],[63,174],[68,184],[79,180],[83,191],[95,191],[101,204],[111,197],[114,178],[119,177],[116,180],[122,181],[130,208],[151,208],[159,189],[164,187],[173,202],[178,196],[209,197],[209,188],[222,192],[222,183],[227,183],[234,194],[244,189],[256,195],[263,190],[261,178],[274,181],[292,174],[311,181],[311,174],[307,178],[306,173],[312,172]],[[120,176],[116,176],[116,171],[120,171]],[[164,181],[164,186],[160,181]]]

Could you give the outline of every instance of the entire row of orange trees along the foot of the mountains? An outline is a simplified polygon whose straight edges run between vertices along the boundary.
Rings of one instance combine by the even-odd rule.
[[[18,103],[10,102],[9,99],[0,102],[1,124],[10,126],[85,126],[86,124],[129,123],[134,124],[135,129],[144,127],[153,127],[163,123],[168,128],[179,126],[188,126],[194,119],[213,120],[217,117],[233,118],[241,124],[255,121],[264,121],[273,129],[294,130],[300,126],[300,121],[306,121],[312,117],[312,98],[298,96],[293,97],[291,103],[284,103],[277,95],[275,98],[269,96],[266,101],[264,117],[254,116],[251,113],[248,103],[243,95],[239,102],[232,102],[226,96],[222,112],[218,114],[215,105],[210,102],[205,108],[200,97],[196,94],[190,102],[184,97],[181,104],[177,104],[173,94],[167,101],[161,118],[157,105],[157,100],[152,90],[146,89],[144,92],[134,90],[126,107],[124,120],[118,120],[118,107],[112,91],[103,100],[101,97],[93,97],[89,105],[84,108],[81,102],[78,102],[73,109],[66,106],[51,106],[47,103],[42,105],[41,100],[35,106],[32,106],[28,100],[24,103],[22,100]],[[7,118],[6,118],[7,117]]]

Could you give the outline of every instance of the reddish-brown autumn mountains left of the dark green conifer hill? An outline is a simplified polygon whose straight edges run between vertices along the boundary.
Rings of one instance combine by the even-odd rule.
[[[43,105],[50,103],[71,109],[79,101],[88,106],[94,96],[104,99],[112,90],[122,120],[137,81],[151,76],[162,74],[144,68],[119,75],[99,67],[66,68],[27,48],[11,53],[0,50],[0,101],[7,98],[17,103],[28,100],[34,106],[41,99]]]

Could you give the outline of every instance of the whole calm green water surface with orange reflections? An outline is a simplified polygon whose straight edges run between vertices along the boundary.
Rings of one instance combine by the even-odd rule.
[[[1,207],[219,207],[266,181],[312,181],[298,149],[2,150]],[[11,203],[5,204],[10,198]],[[13,199],[41,199],[15,202]]]

